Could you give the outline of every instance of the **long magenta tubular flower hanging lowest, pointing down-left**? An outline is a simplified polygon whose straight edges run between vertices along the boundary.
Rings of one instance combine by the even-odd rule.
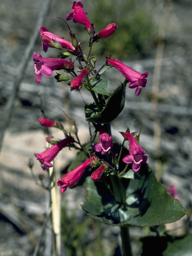
[[[88,158],[85,162],[80,164],[78,167],[74,168],[70,172],[68,172],[62,179],[58,179],[57,185],[62,186],[61,193],[65,192],[68,187],[73,186],[78,180],[80,180],[82,174],[88,168],[88,166],[92,163],[94,159],[97,159],[96,156],[92,156]]]

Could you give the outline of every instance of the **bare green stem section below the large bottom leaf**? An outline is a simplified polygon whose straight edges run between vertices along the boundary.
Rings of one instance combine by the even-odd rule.
[[[132,256],[131,240],[128,227],[120,227],[123,256]]]

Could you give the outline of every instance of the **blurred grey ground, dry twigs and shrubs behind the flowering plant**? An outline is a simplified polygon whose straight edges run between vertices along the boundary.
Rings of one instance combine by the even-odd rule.
[[[37,119],[45,115],[50,120],[60,120],[66,129],[70,127],[64,114],[49,101],[76,120],[82,141],[89,136],[81,95],[70,92],[65,83],[57,83],[54,76],[43,77],[38,85],[34,80],[32,52],[52,58],[57,58],[59,52],[53,48],[46,53],[42,51],[39,27],[45,26],[70,40],[64,21],[53,17],[65,19],[72,3],[70,0],[0,2],[0,256],[51,255],[51,228],[45,223],[49,197],[39,186],[48,177],[34,158],[34,152],[40,153],[46,147],[46,130]],[[82,3],[97,32],[109,23],[118,25],[110,38],[94,43],[92,54],[98,56],[98,68],[105,62],[105,56],[111,54],[141,73],[149,71],[148,85],[139,97],[134,90],[127,89],[125,108],[112,122],[114,139],[121,141],[118,131],[125,131],[128,126],[131,132],[139,132],[142,124],[140,144],[156,177],[165,186],[175,185],[180,202],[190,211],[191,0],[82,0]],[[72,20],[68,24],[87,54],[89,36],[83,26]],[[104,78],[110,80],[111,91],[124,79],[115,69],[109,69]],[[82,97],[86,103],[92,102],[83,90]],[[62,138],[59,132],[51,132]],[[55,161],[61,172],[59,177],[75,153],[67,149],[60,152]],[[121,255],[118,228],[99,225],[87,217],[79,206],[84,198],[86,192],[80,187],[62,194],[61,255]],[[192,232],[187,217],[167,228],[178,235]],[[137,239],[150,232],[149,228],[131,229],[136,255],[140,255],[142,248]]]

